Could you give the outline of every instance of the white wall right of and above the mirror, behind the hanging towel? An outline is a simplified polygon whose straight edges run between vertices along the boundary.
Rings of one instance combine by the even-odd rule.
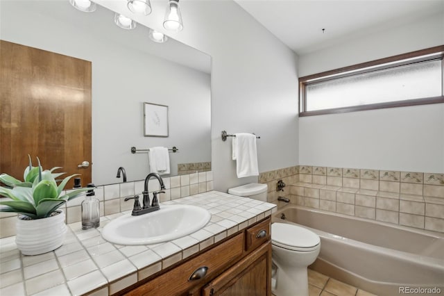
[[[122,3],[99,3],[124,13]],[[119,6],[120,4],[120,6]],[[149,17],[135,17],[212,56],[212,170],[214,189],[257,181],[237,179],[231,139],[221,131],[252,132],[259,172],[298,164],[297,56],[232,0],[181,2],[184,30],[162,28],[164,2],[152,1]],[[157,13],[160,11],[160,13]]]

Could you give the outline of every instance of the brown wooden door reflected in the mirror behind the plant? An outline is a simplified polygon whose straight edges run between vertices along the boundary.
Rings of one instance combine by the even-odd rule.
[[[0,40],[0,173],[43,168],[91,182],[91,62]],[[66,188],[73,187],[73,179]]]

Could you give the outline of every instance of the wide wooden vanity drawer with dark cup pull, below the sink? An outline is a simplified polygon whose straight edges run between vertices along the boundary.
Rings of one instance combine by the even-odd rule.
[[[198,283],[205,283],[220,274],[224,268],[238,260],[243,252],[244,233],[239,233],[221,245],[131,290],[127,295],[182,295]],[[205,275],[199,276],[199,273]],[[190,280],[191,274],[195,275],[195,279]]]

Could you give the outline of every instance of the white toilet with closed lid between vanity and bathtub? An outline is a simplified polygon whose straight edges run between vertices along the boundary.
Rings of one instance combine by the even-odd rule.
[[[266,184],[250,183],[228,193],[266,202]],[[276,296],[308,296],[307,267],[321,250],[321,238],[295,224],[271,224],[273,271],[271,289]]]

